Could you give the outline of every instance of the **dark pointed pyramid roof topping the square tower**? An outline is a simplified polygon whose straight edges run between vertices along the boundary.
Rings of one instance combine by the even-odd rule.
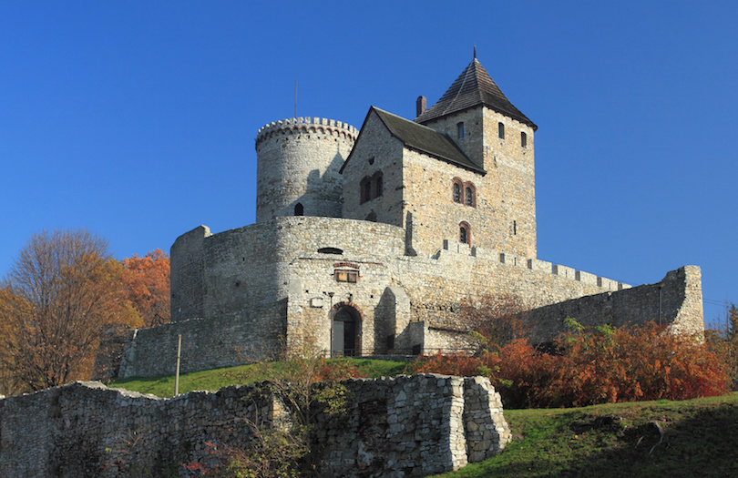
[[[538,127],[523,115],[510,100],[505,97],[499,86],[489,77],[484,66],[474,58],[464,72],[456,78],[436,105],[425,110],[415,122],[425,124],[437,117],[445,117],[452,113],[463,111],[470,107],[485,105],[507,117],[532,127]]]

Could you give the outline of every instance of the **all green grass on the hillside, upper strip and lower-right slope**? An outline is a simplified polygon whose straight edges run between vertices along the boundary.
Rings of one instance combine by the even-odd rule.
[[[370,377],[405,371],[404,362],[351,363]],[[260,368],[244,365],[182,375],[179,390],[217,390],[266,379]],[[174,377],[110,385],[171,396]],[[684,402],[506,410],[505,417],[513,441],[504,453],[442,476],[738,476],[738,393]]]

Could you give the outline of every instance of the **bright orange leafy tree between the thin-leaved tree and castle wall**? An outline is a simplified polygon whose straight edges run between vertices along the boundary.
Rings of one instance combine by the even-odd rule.
[[[139,258],[123,259],[126,298],[144,327],[169,322],[169,256],[156,249]]]

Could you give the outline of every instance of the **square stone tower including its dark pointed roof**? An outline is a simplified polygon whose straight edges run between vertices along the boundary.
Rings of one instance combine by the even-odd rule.
[[[449,178],[460,182],[458,197],[452,190],[454,200],[467,203],[466,195],[474,195],[477,224],[470,225],[476,239],[471,244],[536,258],[533,136],[538,127],[510,103],[476,56],[436,105],[418,111],[415,122],[452,138],[486,172],[472,191],[466,178]]]

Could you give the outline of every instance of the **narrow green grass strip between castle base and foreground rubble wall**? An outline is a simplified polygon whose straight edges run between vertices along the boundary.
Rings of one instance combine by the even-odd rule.
[[[394,376],[405,371],[405,361],[380,361],[370,359],[332,359],[331,361],[350,361],[364,375],[370,378],[382,376]],[[279,367],[280,362],[274,362],[271,367]],[[271,369],[268,369],[271,370]],[[193,390],[218,390],[229,385],[247,385],[254,381],[266,381],[270,379],[269,371],[258,364],[241,365],[225,369],[214,369],[210,371],[194,371],[179,375],[179,393],[187,393]],[[171,397],[174,395],[174,375],[161,375],[150,378],[131,378],[114,381],[108,384],[110,387],[120,387],[127,390],[153,393],[159,397]]]

